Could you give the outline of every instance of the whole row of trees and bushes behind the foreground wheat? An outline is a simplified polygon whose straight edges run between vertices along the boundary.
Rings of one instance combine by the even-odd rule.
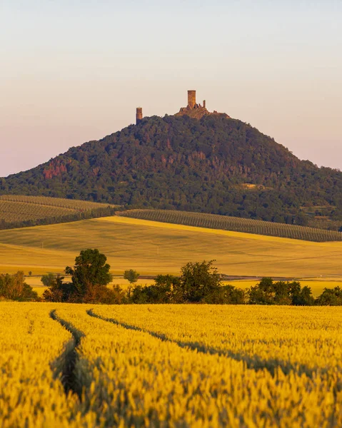
[[[274,281],[263,277],[248,290],[224,285],[223,277],[213,266],[214,260],[186,263],[181,275],[158,275],[152,285],[136,285],[139,273],[126,270],[127,290],[111,285],[113,277],[106,255],[97,249],[82,250],[73,267],[67,266],[65,277],[49,273],[41,278],[46,285],[42,300],[98,304],[206,303],[216,305],[342,305],[341,287],[325,288],[316,299],[311,288],[298,281]],[[7,300],[39,300],[36,292],[24,281],[24,272],[0,275],[0,298]]]

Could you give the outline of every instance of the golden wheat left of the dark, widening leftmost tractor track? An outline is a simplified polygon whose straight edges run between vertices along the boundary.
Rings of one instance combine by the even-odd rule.
[[[57,375],[64,364],[59,357],[72,346],[72,337],[51,319],[50,310],[49,305],[1,302],[2,428],[76,427],[71,424],[75,398],[66,397]]]

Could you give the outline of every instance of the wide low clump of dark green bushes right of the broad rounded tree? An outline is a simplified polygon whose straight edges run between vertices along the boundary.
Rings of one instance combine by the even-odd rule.
[[[310,287],[301,288],[297,281],[277,281],[264,277],[248,292],[251,305],[313,305],[315,300]]]

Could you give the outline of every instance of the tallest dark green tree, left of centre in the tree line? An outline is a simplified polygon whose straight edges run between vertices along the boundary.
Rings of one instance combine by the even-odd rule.
[[[71,275],[74,286],[75,301],[91,299],[97,287],[109,284],[112,276],[109,273],[110,265],[106,263],[107,258],[99,250],[82,250],[75,259],[74,267],[67,266],[66,275]]]

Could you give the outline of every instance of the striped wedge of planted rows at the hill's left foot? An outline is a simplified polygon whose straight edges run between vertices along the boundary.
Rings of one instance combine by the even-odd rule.
[[[114,213],[114,205],[49,198],[44,196],[0,196],[0,229],[63,223]]]

